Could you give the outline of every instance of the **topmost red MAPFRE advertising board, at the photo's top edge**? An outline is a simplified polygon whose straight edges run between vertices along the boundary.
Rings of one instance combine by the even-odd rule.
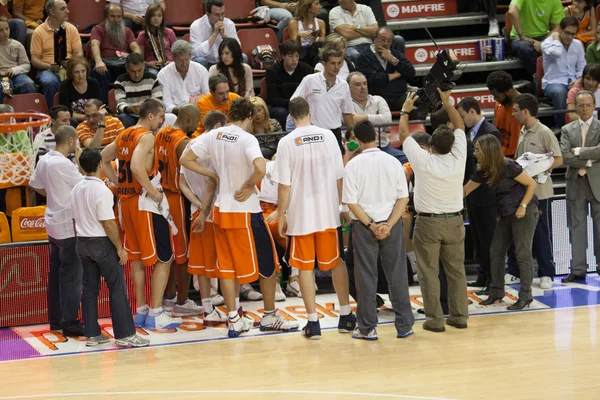
[[[385,19],[456,15],[456,0],[413,0],[384,2]]]

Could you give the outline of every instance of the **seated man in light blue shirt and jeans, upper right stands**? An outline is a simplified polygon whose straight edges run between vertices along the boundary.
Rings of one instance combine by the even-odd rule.
[[[575,17],[565,17],[560,21],[558,31],[552,32],[542,42],[544,57],[544,76],[542,89],[544,94],[552,98],[555,110],[567,108],[569,88],[581,80],[585,67],[585,50],[579,40],[573,38],[577,34],[578,22]],[[563,126],[565,117],[562,113],[554,115],[557,127]]]

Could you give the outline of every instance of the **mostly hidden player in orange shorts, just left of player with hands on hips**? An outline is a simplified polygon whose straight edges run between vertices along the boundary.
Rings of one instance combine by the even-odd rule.
[[[217,110],[211,110],[204,116],[204,127],[207,132],[225,126],[226,123],[225,114]],[[190,151],[188,150],[190,145],[197,141],[198,138],[192,139],[186,151]],[[209,157],[198,158],[197,161],[203,167],[212,170]],[[179,179],[181,191],[191,202],[194,221],[190,230],[188,272],[198,277],[204,311],[202,325],[217,326],[227,322],[227,315],[214,308],[211,299],[210,280],[218,278],[214,226],[212,219],[209,218],[216,193],[215,181],[185,167],[181,167]]]

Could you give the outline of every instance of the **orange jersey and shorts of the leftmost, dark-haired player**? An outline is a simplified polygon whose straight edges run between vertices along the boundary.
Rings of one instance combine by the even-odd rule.
[[[158,214],[139,209],[142,186],[133,177],[131,159],[133,151],[144,135],[151,135],[141,127],[131,127],[117,137],[117,160],[119,165],[117,196],[119,216],[124,232],[123,247],[132,261],[142,261],[153,266],[158,261],[169,262],[173,258],[173,239],[167,220]],[[154,157],[149,178],[158,173],[158,159]]]

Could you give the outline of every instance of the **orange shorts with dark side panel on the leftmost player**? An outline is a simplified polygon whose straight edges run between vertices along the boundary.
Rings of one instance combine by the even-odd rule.
[[[158,214],[138,209],[138,196],[119,201],[123,247],[131,261],[150,267],[173,259],[173,237],[167,220]]]

